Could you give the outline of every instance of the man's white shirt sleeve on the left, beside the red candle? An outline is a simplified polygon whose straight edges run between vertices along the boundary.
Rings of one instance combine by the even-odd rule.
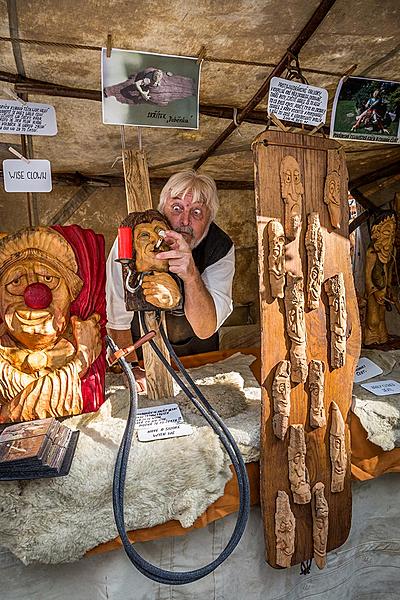
[[[106,264],[107,327],[122,331],[131,328],[134,311],[126,310],[122,265],[118,258],[118,238],[115,240]]]

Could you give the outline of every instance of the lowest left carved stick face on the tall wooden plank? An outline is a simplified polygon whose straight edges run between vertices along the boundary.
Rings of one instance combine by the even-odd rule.
[[[296,521],[290,510],[289,496],[278,491],[275,510],[276,564],[290,567],[294,554]]]

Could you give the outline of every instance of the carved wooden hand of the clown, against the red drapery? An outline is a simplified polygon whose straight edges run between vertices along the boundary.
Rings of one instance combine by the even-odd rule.
[[[77,357],[81,361],[82,373],[99,356],[102,348],[100,335],[100,315],[93,313],[86,321],[71,317],[72,333],[77,348]]]

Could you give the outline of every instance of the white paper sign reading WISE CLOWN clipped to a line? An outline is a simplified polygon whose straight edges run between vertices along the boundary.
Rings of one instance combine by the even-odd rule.
[[[3,161],[6,192],[51,192],[51,168],[48,160],[20,159]]]

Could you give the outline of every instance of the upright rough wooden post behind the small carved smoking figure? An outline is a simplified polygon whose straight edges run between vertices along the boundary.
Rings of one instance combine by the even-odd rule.
[[[142,150],[123,150],[122,161],[124,165],[128,213],[153,208],[149,170],[145,153]],[[146,312],[145,319],[148,328],[157,331],[155,312]],[[166,328],[164,314],[162,315],[162,324]],[[141,331],[141,333],[143,335],[144,331]],[[168,362],[170,362],[167,347],[159,333],[153,338],[153,341],[160,348]],[[173,396],[172,377],[155,355],[150,344],[143,346],[143,362],[147,379],[147,396],[151,400]]]

